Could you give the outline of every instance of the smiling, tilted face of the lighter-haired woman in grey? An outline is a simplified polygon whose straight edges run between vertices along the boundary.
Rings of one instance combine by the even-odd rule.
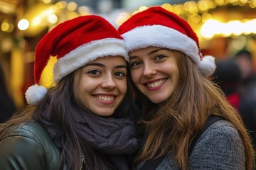
[[[166,101],[174,93],[178,67],[174,53],[160,47],[129,52],[132,81],[153,103]]]

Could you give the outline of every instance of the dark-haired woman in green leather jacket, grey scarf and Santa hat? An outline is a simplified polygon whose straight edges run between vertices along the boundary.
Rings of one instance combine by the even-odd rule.
[[[55,86],[38,83],[49,57]],[[129,169],[137,149],[127,51],[100,16],[60,23],[38,43],[30,105],[0,128],[1,169]]]

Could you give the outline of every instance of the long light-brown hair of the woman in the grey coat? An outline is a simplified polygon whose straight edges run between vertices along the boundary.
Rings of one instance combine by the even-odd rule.
[[[142,102],[146,106],[142,111],[146,112],[142,113],[139,130],[149,136],[134,162],[152,159],[160,149],[158,156],[173,152],[176,166],[188,169],[188,148],[193,137],[203,128],[209,115],[220,115],[238,130],[245,147],[247,169],[252,169],[254,150],[238,112],[226,101],[220,88],[203,77],[189,57],[173,52],[179,70],[174,94],[151,111],[147,108],[153,103],[146,101],[142,94],[138,96],[146,102]]]

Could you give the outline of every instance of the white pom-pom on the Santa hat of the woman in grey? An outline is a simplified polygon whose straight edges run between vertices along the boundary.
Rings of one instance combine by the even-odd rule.
[[[198,63],[198,68],[206,77],[209,77],[216,69],[215,58],[210,55],[204,56],[203,60]]]

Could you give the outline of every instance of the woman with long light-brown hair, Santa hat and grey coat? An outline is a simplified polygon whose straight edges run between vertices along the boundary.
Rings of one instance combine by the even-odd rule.
[[[207,78],[215,70],[214,58],[201,55],[188,23],[153,6],[118,30],[129,51],[134,94],[142,109],[136,169],[149,164],[154,169],[252,169],[247,131]],[[202,132],[213,118],[218,119]]]

